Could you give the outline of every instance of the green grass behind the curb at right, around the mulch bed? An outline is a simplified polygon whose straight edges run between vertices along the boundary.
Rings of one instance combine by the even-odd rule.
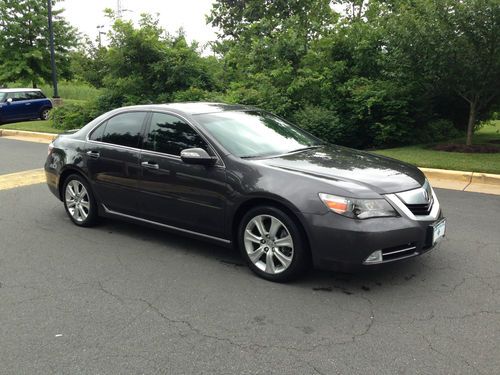
[[[474,143],[488,143],[492,140],[500,140],[500,121],[493,121],[491,124],[485,125],[474,135]],[[458,142],[464,143],[465,137],[449,141],[449,143]],[[500,174],[500,153],[466,154],[434,151],[426,148],[425,145],[377,150],[374,152],[403,160],[419,167]]]

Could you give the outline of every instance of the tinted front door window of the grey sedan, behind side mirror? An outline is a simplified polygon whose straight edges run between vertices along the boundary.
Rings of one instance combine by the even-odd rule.
[[[144,148],[170,155],[180,155],[186,148],[209,151],[206,142],[191,126],[165,113],[153,113]]]

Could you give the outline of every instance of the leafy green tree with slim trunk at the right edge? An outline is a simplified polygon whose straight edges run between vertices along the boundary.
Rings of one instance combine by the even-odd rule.
[[[408,0],[396,8],[389,55],[435,95],[467,103],[470,145],[477,120],[500,99],[500,0]]]

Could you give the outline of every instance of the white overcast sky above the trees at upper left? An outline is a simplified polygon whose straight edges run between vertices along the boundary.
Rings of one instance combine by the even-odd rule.
[[[196,40],[202,46],[215,40],[215,30],[206,24],[205,15],[209,14],[213,0],[122,0],[123,19],[137,21],[141,13],[159,13],[160,24],[170,33],[182,27],[189,41]],[[109,30],[110,23],[104,17],[104,9],[116,11],[116,0],[65,0],[57,4],[64,8],[64,17],[78,30],[97,37],[96,26],[104,25]]]

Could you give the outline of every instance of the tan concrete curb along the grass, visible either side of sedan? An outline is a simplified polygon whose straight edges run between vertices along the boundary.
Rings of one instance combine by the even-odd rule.
[[[0,129],[0,137],[20,141],[50,143],[57,134]],[[420,168],[431,185],[441,189],[500,195],[500,175],[479,172]]]

